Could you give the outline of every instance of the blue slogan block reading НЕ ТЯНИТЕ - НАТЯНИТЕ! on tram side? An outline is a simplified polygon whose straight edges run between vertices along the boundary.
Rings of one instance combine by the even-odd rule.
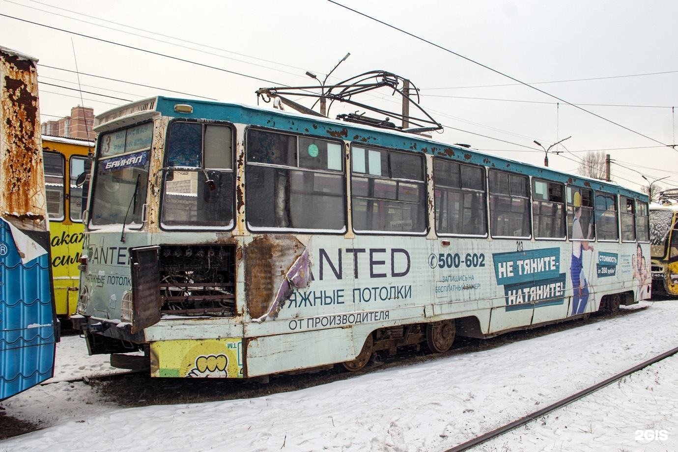
[[[563,304],[566,274],[560,272],[560,249],[546,248],[492,254],[498,285],[504,286],[506,310]]]

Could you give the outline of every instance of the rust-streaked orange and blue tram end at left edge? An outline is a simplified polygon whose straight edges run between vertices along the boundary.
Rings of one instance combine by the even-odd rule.
[[[0,400],[54,373],[37,60],[0,47]]]

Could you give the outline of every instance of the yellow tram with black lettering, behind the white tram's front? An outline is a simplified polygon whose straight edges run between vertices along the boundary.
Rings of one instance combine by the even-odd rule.
[[[43,136],[42,143],[56,315],[62,327],[68,327],[68,316],[75,314],[78,302],[78,264],[85,230],[82,216],[88,188],[75,182],[81,174],[89,173],[92,159],[87,156],[94,153],[94,142]]]

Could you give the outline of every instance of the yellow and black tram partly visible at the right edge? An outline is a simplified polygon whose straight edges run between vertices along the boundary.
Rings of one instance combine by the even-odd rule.
[[[652,290],[678,296],[678,189],[665,190],[650,205]]]

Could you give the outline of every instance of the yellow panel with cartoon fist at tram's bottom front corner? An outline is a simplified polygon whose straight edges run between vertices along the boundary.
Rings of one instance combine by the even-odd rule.
[[[243,342],[238,338],[151,343],[152,377],[243,377]]]

